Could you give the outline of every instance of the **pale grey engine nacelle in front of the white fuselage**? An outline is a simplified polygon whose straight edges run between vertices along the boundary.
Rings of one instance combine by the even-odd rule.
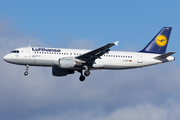
[[[59,68],[73,68],[76,65],[75,59],[61,58],[59,59]]]

